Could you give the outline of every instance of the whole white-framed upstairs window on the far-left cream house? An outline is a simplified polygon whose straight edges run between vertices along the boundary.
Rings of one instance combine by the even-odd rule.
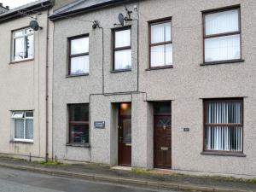
[[[12,61],[32,59],[34,55],[34,33],[31,28],[13,32]]]

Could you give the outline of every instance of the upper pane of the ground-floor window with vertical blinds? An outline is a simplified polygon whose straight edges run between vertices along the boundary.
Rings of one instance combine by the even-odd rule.
[[[207,123],[241,124],[241,102],[209,102]]]

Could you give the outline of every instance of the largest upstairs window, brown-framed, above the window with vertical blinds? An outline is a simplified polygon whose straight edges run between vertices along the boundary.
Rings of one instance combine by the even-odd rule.
[[[241,60],[240,9],[225,9],[204,15],[204,62]]]

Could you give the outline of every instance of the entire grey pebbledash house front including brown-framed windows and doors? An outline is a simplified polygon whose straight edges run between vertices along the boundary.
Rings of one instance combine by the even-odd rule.
[[[255,1],[93,2],[76,1],[56,9],[50,16],[55,23],[53,155],[58,160],[90,161],[112,166],[131,163],[131,166],[149,169],[166,160],[166,167],[177,171],[255,176]],[[118,61],[115,54],[119,43],[115,42],[118,38],[114,35],[118,35],[116,30],[123,28],[114,24],[119,24],[119,13],[126,15],[124,4],[132,10],[133,20],[125,22],[125,26],[131,29],[131,42],[123,42],[126,46],[122,47],[131,49],[131,66],[115,70],[113,62]],[[221,28],[225,25],[218,26],[218,22],[221,23],[220,20],[228,13],[235,14],[236,19],[224,19],[226,24],[231,23],[226,33]],[[218,20],[218,16],[222,19]],[[99,21],[99,27],[95,29],[92,28],[94,20]],[[203,30],[204,20],[209,23],[218,20],[217,26],[205,25]],[[153,38],[149,38],[153,32],[150,26],[152,23],[160,24],[159,21],[167,23],[165,25],[172,23],[172,38],[165,34],[165,43],[160,41],[158,44],[156,40],[153,44]],[[225,52],[223,57],[222,51],[218,51],[211,55],[211,45],[210,48],[208,46],[211,40],[230,38],[226,35],[235,39],[230,47],[236,47],[236,53]],[[89,69],[87,66],[86,73],[78,76],[71,74],[70,65],[73,64],[70,62],[74,56],[73,39],[81,37],[89,38],[89,45],[86,43],[89,50],[84,55],[84,60],[85,56],[89,57]],[[159,37],[156,35],[155,38]],[[150,52],[154,54],[150,42],[152,46],[163,43],[168,51],[172,44],[172,61],[167,50],[163,59],[169,65],[150,67]],[[212,49],[216,49],[214,46]],[[219,49],[223,50],[221,46]],[[208,48],[206,51],[205,47]],[[233,59],[230,60],[229,54],[234,58],[231,56]],[[222,61],[218,61],[219,55]],[[214,57],[217,57],[217,62]],[[223,59],[225,57],[228,59]],[[79,107],[81,103],[87,107]],[[75,104],[78,111],[79,108],[87,110],[86,122],[83,122],[84,129],[88,129],[86,144],[81,144],[84,137],[79,137],[83,135],[79,133],[79,125],[70,119],[73,113],[79,113],[73,110]],[[128,104],[131,112],[126,117],[128,120],[122,118],[120,123],[122,104]],[[161,104],[164,108],[158,107]],[[155,115],[158,110],[163,110],[163,114]],[[171,118],[172,125],[169,121],[158,125],[156,121],[161,115]],[[126,147],[131,147],[130,152],[119,145],[124,141],[123,135],[119,135],[124,126],[131,129],[131,136],[126,135],[129,140]],[[166,137],[156,138],[157,130],[168,129]],[[156,140],[161,141],[161,138],[168,146],[163,143],[159,146],[160,142]],[[120,148],[125,151],[125,157],[120,157]],[[155,160],[159,158],[155,155],[158,153],[155,148],[169,153],[159,152],[161,160]],[[131,158],[131,162],[119,163],[120,158]]]

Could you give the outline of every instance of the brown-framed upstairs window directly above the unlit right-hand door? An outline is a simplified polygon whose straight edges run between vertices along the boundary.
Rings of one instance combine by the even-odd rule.
[[[165,20],[150,25],[150,67],[172,66],[172,22]]]

